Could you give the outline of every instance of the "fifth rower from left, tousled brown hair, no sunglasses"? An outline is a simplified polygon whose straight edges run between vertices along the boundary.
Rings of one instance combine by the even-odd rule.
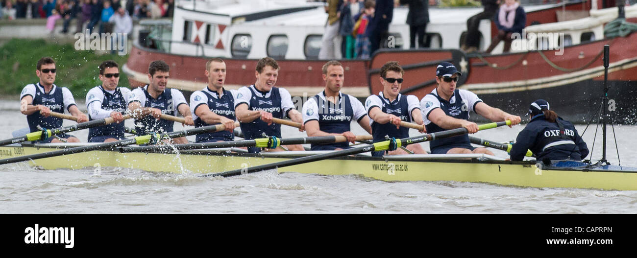
[[[303,116],[294,109],[290,92],[275,87],[278,77],[278,63],[270,57],[257,62],[254,85],[244,86],[238,90],[234,110],[241,122],[241,132],[246,140],[275,136],[281,138],[281,125],[272,122],[272,118],[289,117],[293,122],[301,124]],[[299,131],[303,131],[303,127]],[[285,145],[288,150],[304,150],[302,145]],[[281,151],[278,148],[265,148],[266,151]],[[250,147],[248,152],[261,152],[260,148]]]

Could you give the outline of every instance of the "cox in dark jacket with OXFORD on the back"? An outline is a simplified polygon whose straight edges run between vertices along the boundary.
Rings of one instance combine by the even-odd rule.
[[[575,126],[550,110],[544,99],[533,101],[527,115],[530,122],[511,148],[512,161],[522,161],[527,149],[538,161],[582,161],[589,155],[589,148]]]

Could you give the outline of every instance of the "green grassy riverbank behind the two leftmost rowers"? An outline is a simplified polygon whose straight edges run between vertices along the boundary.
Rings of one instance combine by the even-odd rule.
[[[127,55],[97,55],[92,50],[75,50],[72,43],[58,45],[44,39],[11,39],[0,46],[0,94],[20,94],[25,85],[38,82],[36,64],[46,56],[55,60],[55,85],[68,87],[76,99],[83,99],[86,92],[101,84],[97,67],[105,60],[120,65],[119,85],[129,85],[121,69]]]

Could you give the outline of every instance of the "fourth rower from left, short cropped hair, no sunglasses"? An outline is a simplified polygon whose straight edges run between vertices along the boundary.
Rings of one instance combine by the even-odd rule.
[[[234,103],[236,90],[224,89],[225,62],[213,58],[206,62],[204,75],[208,78],[208,87],[190,95],[190,111],[194,114],[195,127],[222,124],[225,131],[197,134],[197,143],[212,141],[234,141]]]

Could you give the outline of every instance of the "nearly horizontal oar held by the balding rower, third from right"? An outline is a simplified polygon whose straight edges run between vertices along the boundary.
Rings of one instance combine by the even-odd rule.
[[[371,135],[356,136],[356,140],[371,140]],[[298,138],[257,138],[254,140],[239,141],[219,141],[213,143],[186,143],[176,144],[170,147],[165,146],[140,146],[121,148],[120,152],[157,152],[175,150],[200,150],[204,148],[232,148],[232,147],[257,147],[257,148],[276,148],[281,145],[293,144],[321,144],[321,143],[341,143],[347,141],[345,136],[317,136],[317,137],[298,137]]]

